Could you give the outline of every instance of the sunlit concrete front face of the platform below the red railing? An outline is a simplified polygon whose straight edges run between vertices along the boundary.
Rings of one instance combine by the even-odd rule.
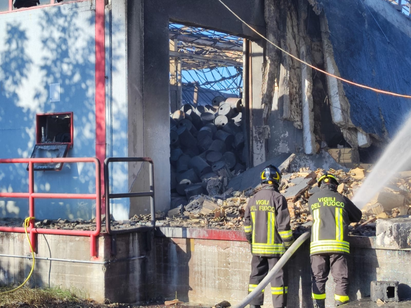
[[[66,260],[90,260],[90,239],[64,235],[38,235],[36,257]],[[0,233],[0,254],[28,256],[30,248],[23,233]],[[99,259],[104,260],[104,241],[98,240]],[[109,250],[108,250],[109,251]],[[36,259],[34,272],[29,281],[31,286],[62,288],[76,287],[91,298],[105,298],[103,264],[74,263]],[[0,284],[22,283],[30,273],[31,259],[0,257]]]

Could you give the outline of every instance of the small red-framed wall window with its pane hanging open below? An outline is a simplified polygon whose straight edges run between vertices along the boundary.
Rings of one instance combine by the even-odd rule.
[[[31,158],[62,158],[73,147],[73,113],[36,115],[36,144]],[[34,170],[61,170],[62,162],[34,164]],[[28,167],[27,167],[28,169]]]

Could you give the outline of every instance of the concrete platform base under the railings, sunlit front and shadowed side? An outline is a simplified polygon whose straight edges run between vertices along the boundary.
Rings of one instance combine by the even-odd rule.
[[[108,299],[134,303],[149,299],[155,266],[146,233],[121,235],[115,256],[111,254],[110,237],[102,234],[97,239],[97,258],[90,257],[88,237],[37,235],[36,238],[38,253],[29,285],[75,287],[98,302]],[[0,254],[31,255],[26,235],[0,232]],[[0,285],[23,282],[30,268],[31,259],[0,256]]]

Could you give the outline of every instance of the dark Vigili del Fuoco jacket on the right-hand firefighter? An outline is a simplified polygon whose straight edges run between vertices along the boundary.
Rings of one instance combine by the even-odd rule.
[[[348,225],[361,220],[361,210],[329,184],[309,198],[308,206],[313,218],[310,254],[349,254]]]

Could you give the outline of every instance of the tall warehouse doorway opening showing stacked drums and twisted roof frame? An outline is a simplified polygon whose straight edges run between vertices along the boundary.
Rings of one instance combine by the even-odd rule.
[[[242,38],[170,23],[171,209],[246,169]]]

